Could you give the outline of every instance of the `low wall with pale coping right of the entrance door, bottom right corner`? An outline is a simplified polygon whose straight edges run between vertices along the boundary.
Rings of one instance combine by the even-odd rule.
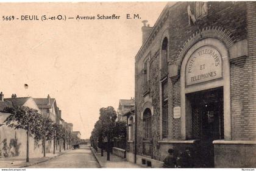
[[[213,141],[215,167],[256,167],[256,141]]]

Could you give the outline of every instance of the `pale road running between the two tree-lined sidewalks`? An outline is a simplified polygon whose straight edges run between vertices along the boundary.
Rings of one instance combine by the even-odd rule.
[[[31,168],[84,168],[99,167],[91,149],[87,145],[80,145],[79,149],[70,150],[46,162],[30,166]]]

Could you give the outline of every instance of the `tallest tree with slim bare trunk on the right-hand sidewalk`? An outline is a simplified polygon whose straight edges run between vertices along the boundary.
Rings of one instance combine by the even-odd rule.
[[[115,121],[117,114],[115,109],[112,106],[107,108],[101,108],[99,110],[99,120],[102,123],[102,133],[107,137],[107,160],[110,160],[110,141],[113,140]]]

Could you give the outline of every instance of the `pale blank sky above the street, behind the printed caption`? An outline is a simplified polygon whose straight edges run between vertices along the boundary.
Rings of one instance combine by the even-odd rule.
[[[19,3],[0,5],[0,91],[5,98],[55,98],[62,118],[90,138],[99,108],[134,97],[141,21],[154,25],[166,2]],[[140,19],[126,19],[127,14]],[[119,15],[120,19],[78,20]],[[37,15],[38,21],[21,21]],[[74,19],[41,21],[41,16]],[[3,21],[2,16],[15,16]],[[19,18],[19,19],[16,19]],[[28,88],[24,88],[24,84]]]

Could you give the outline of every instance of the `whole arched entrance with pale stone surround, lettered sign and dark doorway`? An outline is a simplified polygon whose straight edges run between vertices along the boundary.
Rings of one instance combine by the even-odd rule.
[[[199,139],[202,167],[214,167],[216,139],[230,139],[230,74],[227,48],[215,38],[194,44],[180,68],[181,133]]]

